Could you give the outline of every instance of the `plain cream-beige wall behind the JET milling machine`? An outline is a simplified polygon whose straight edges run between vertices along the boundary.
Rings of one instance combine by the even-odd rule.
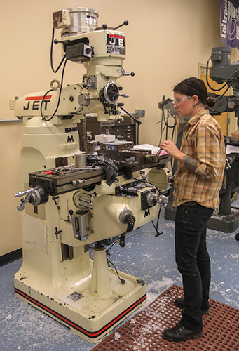
[[[163,95],[172,98],[172,86],[186,77],[198,76],[198,63],[206,63],[214,46],[221,46],[219,0],[11,0],[1,1],[0,119],[13,119],[8,101],[16,95],[46,91],[60,72],[50,69],[52,13],[62,8],[85,6],[100,13],[99,25],[123,27],[126,36],[125,72],[122,77],[125,109],[146,110],[139,143],[158,145]],[[56,33],[60,39],[60,31]],[[238,60],[233,49],[233,60]],[[55,46],[55,66],[61,58]],[[67,62],[64,85],[82,81],[83,65]],[[21,122],[0,124],[1,201],[0,256],[21,246],[20,190]]]

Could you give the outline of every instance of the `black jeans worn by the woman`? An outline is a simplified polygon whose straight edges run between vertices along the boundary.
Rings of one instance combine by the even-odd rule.
[[[188,329],[203,328],[202,312],[209,308],[211,279],[210,256],[207,252],[207,221],[212,208],[197,204],[177,207],[175,217],[176,263],[182,274],[185,309],[181,324]]]

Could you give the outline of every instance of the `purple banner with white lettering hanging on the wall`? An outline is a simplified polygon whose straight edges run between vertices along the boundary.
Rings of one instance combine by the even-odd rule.
[[[221,43],[239,48],[239,0],[221,0]]]

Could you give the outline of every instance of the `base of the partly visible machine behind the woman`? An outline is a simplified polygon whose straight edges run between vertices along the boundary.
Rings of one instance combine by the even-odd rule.
[[[219,232],[232,233],[239,227],[239,208],[232,207],[231,214],[224,216],[214,211],[207,222],[207,228],[219,230]]]

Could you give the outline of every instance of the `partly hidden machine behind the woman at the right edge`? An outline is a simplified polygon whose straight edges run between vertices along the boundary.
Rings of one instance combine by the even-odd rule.
[[[212,48],[212,54],[207,62],[212,61],[210,67],[210,78],[218,84],[223,84],[219,89],[213,89],[207,79],[207,85],[215,91],[214,98],[217,104],[211,109],[211,114],[221,114],[222,112],[235,112],[239,126],[239,62],[231,63],[231,48],[222,46]],[[206,75],[207,77],[207,75]],[[218,95],[217,92],[226,88],[224,93]],[[229,88],[232,88],[232,95],[225,95]],[[239,186],[239,143],[226,137],[226,170],[224,185],[220,190],[220,206],[214,216],[210,219],[210,227],[224,232],[233,232],[239,226],[239,210],[231,206],[232,194],[238,192]]]

